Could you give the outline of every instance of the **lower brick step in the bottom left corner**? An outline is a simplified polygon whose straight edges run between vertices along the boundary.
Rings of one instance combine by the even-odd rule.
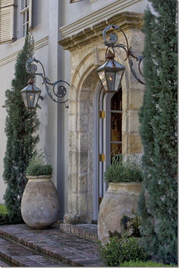
[[[24,248],[18,244],[7,241],[6,239],[0,238],[0,256],[12,266],[20,267],[64,267],[64,263],[59,261],[51,260],[50,258],[41,256],[32,252],[29,249]],[[4,267],[8,265],[0,261],[0,265],[4,263]],[[65,265],[67,266],[67,265]]]

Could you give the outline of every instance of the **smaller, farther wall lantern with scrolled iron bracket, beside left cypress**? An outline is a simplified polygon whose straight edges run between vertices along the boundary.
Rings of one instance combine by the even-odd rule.
[[[34,64],[33,62],[40,63],[40,65],[42,66],[42,69],[43,69],[43,74],[42,73],[36,73],[37,65]],[[54,102],[64,103],[65,108],[68,108],[68,105],[66,105],[66,102],[68,101],[68,99],[63,101],[63,102],[59,102],[56,99],[54,99],[52,94],[51,94],[51,92],[50,92],[50,89],[49,89],[48,85],[53,86],[53,92],[54,92],[56,97],[63,98],[63,97],[65,97],[65,95],[67,93],[66,88],[63,85],[60,85],[60,86],[57,87],[57,92],[55,92],[55,86],[58,83],[61,83],[61,82],[66,83],[68,86],[70,86],[70,84],[68,84],[66,81],[63,81],[63,80],[57,80],[54,83],[50,83],[50,80],[45,76],[45,70],[44,70],[44,67],[43,67],[42,63],[40,62],[40,60],[37,60],[35,58],[31,58],[30,60],[27,61],[26,70],[27,70],[27,73],[29,73],[29,74],[40,75],[42,77],[42,79],[43,79],[42,84],[45,84],[45,88],[46,88],[48,96]],[[35,108],[36,107],[38,99],[40,97],[40,93],[41,93],[40,88],[37,88],[36,86],[34,86],[33,83],[34,83],[34,80],[32,78],[30,78],[29,81],[28,81],[28,85],[25,88],[21,89],[21,91],[20,91],[21,95],[22,95],[24,105],[27,108]]]

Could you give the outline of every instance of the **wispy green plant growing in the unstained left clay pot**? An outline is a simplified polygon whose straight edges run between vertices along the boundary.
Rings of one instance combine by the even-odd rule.
[[[53,167],[51,164],[47,164],[48,155],[46,152],[36,152],[32,158],[30,158],[29,166],[27,167],[26,173],[29,176],[40,176],[40,175],[52,175]]]

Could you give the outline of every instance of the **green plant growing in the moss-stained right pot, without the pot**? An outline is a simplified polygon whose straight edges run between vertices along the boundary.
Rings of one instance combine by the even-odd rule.
[[[104,172],[104,180],[108,182],[141,182],[142,179],[140,163],[135,155],[115,154],[112,157],[112,164],[107,166]]]

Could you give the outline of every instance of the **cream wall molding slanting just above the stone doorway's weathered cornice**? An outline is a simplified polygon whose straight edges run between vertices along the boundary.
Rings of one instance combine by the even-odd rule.
[[[112,15],[120,13],[120,10],[128,7],[140,0],[116,0],[109,5],[96,10],[95,12],[78,19],[68,25],[64,25],[59,28],[62,38],[66,38],[70,35],[80,32],[81,30],[90,27],[98,23],[99,21],[105,20]]]

